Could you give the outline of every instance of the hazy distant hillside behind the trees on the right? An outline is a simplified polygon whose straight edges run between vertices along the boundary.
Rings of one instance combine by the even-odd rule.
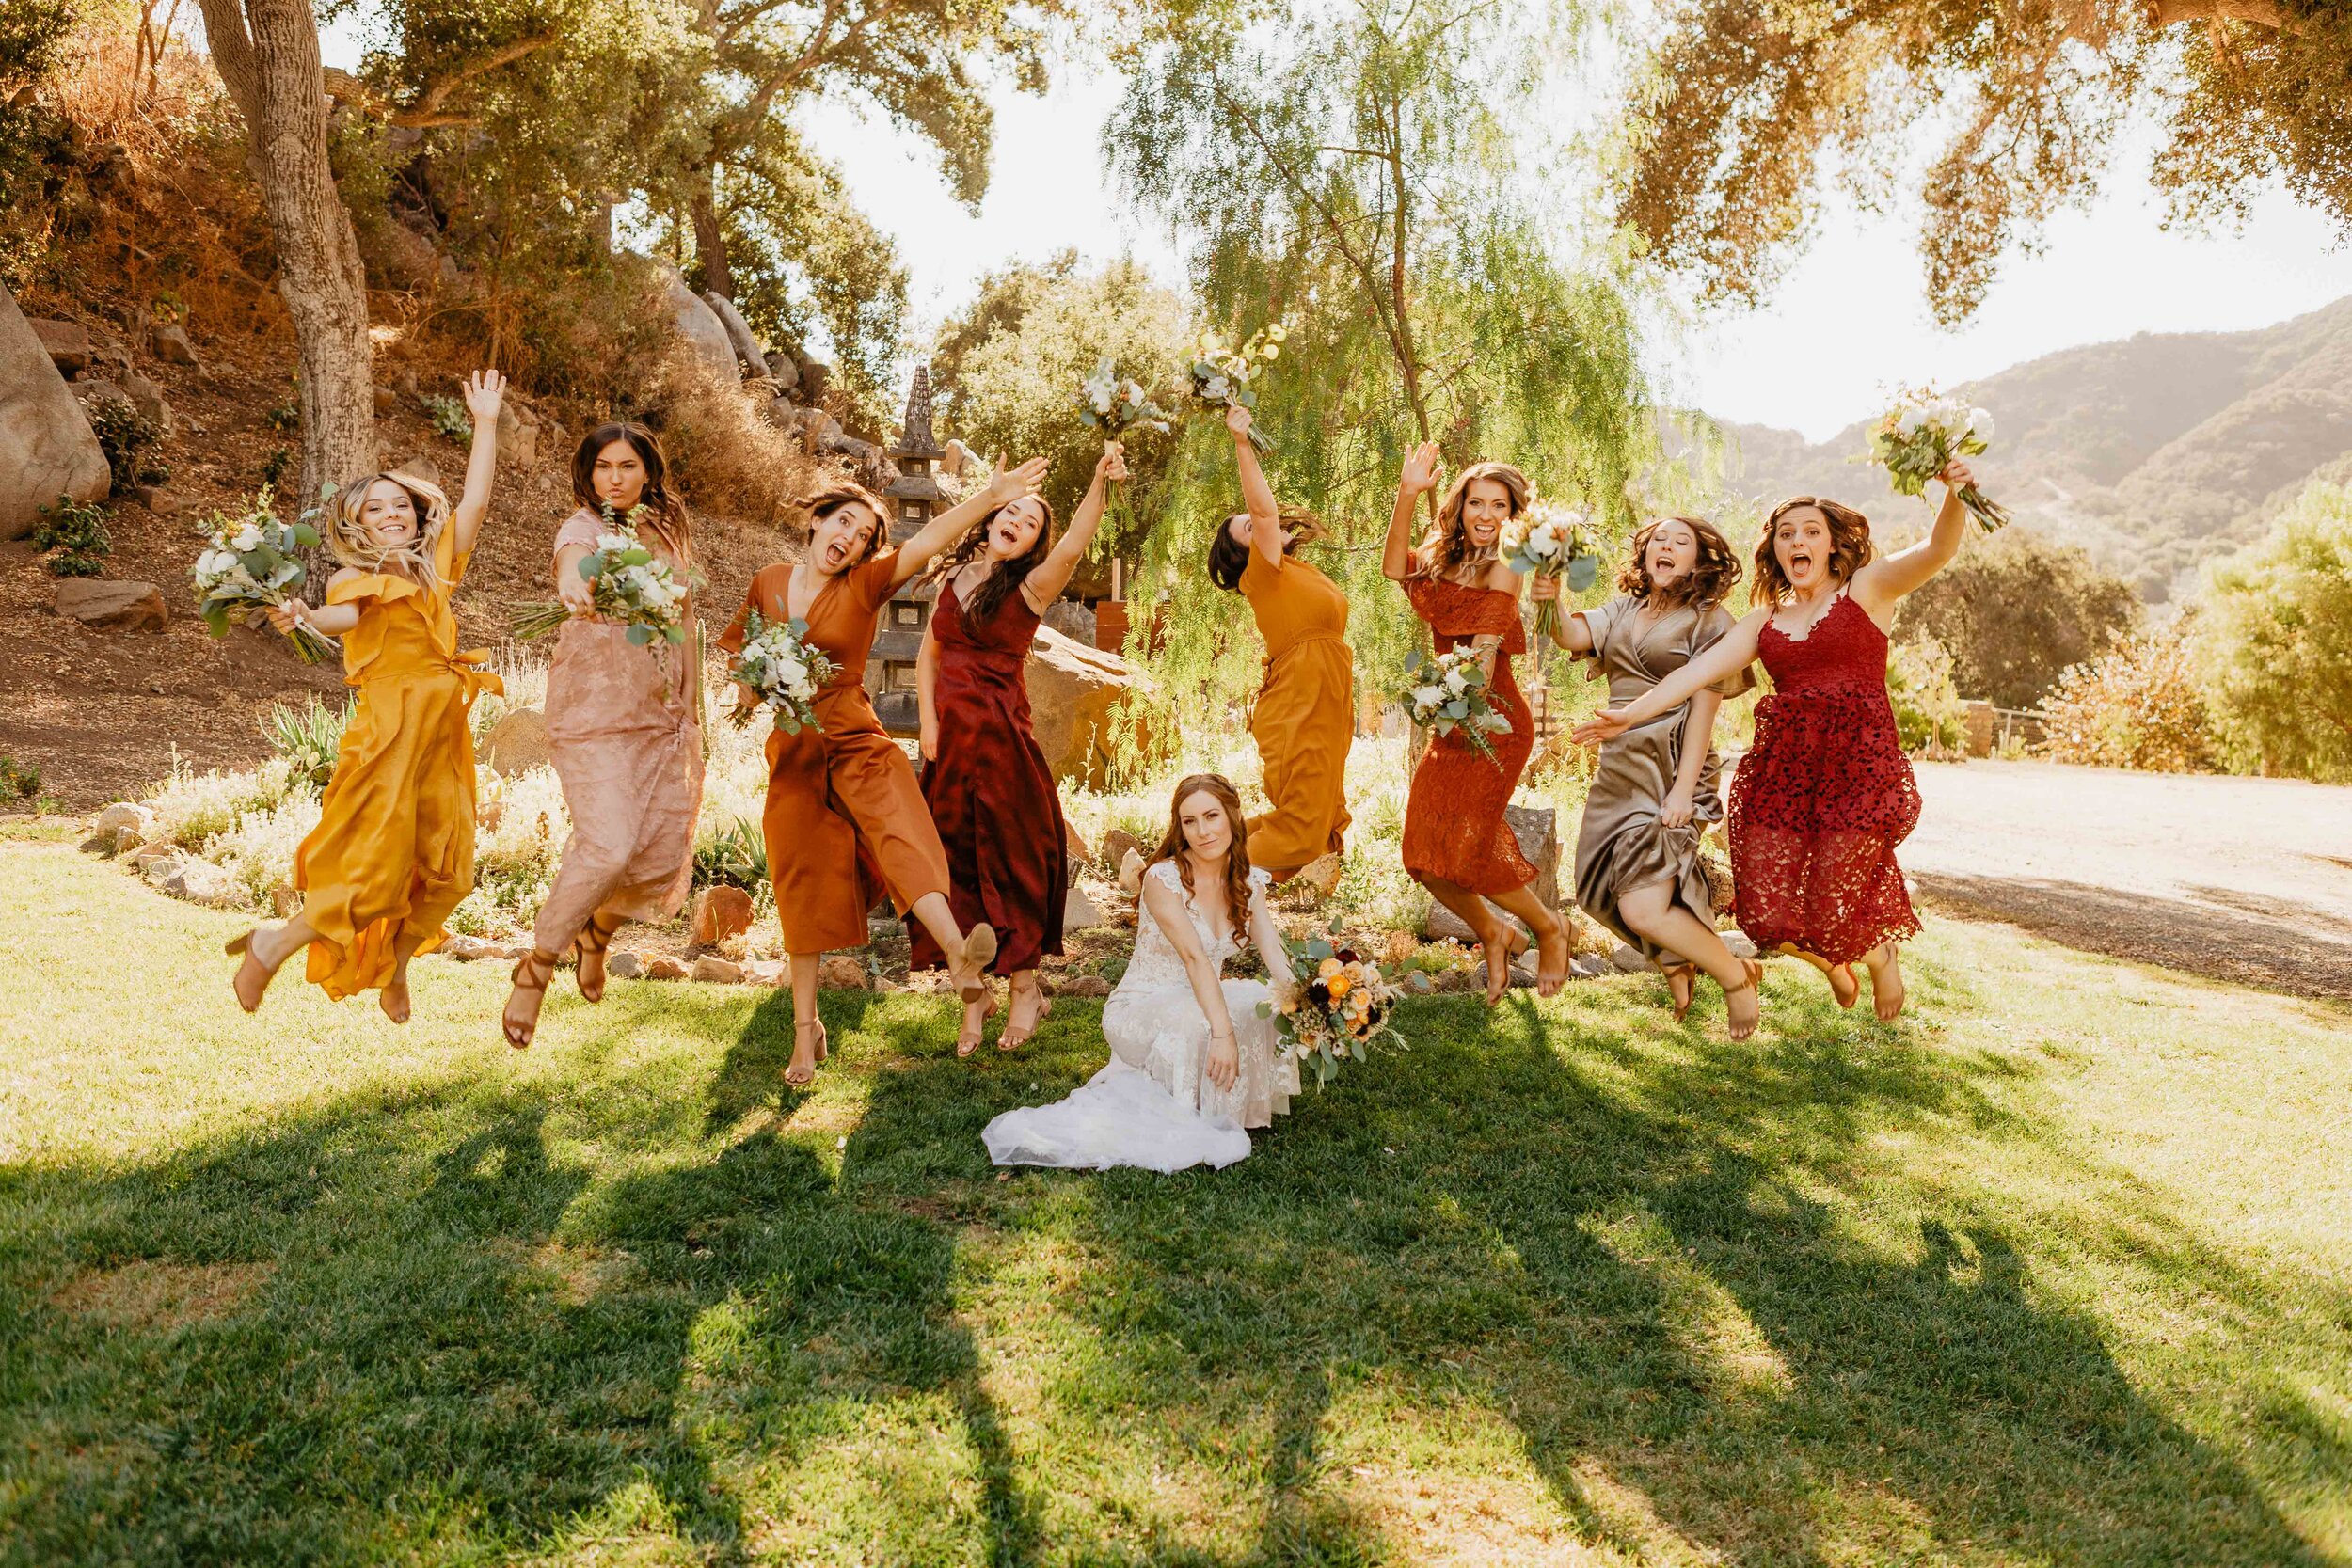
[[[2034,531],[2079,543],[2152,602],[2251,538],[2317,470],[2352,468],[2352,299],[2258,331],[2138,334],[1950,388],[1992,411],[1985,489]],[[1919,517],[1872,470],[1865,425],[1823,444],[1724,425],[1726,489],[1771,503],[1828,494]]]

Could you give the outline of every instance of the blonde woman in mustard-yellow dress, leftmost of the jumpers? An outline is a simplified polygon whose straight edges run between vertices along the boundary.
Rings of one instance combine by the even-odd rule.
[[[308,978],[329,997],[374,990],[383,1016],[409,1020],[409,959],[473,891],[473,736],[466,715],[499,677],[482,654],[456,651],[449,597],[482,531],[499,470],[506,378],[466,378],[473,454],[452,508],[437,484],[374,473],[327,508],[327,548],[341,569],[327,604],[270,611],[278,630],[308,625],[343,639],[343,684],[358,691],[318,827],[294,853],[301,912],[228,943],[242,954],[235,990],[261,1006],[278,966],[310,950]]]

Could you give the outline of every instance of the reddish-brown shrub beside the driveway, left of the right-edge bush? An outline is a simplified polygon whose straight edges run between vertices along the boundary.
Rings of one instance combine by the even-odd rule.
[[[2060,675],[2042,722],[2042,752],[2053,762],[2152,773],[2216,766],[2213,719],[2178,628],[2133,637]]]

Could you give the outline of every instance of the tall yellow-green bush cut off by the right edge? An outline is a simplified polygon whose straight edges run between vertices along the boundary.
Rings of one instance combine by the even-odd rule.
[[[2314,484],[2206,567],[2197,651],[2241,766],[2352,783],[2352,491]]]

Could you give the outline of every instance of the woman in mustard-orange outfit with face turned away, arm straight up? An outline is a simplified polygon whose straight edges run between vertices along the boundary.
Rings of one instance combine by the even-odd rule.
[[[1225,409],[1225,428],[1249,510],[1228,517],[1209,541],[1209,581],[1249,599],[1265,639],[1265,684],[1249,710],[1249,733],[1272,811],[1249,818],[1249,863],[1287,882],[1345,849],[1348,745],[1355,741],[1348,595],[1298,559],[1298,545],[1319,531],[1275,505],[1275,489],[1249,444],[1249,409]]]

